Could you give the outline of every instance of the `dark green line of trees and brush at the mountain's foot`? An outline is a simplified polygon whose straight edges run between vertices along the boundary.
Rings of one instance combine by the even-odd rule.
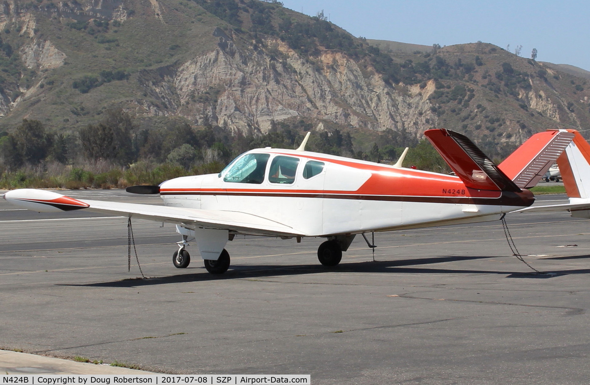
[[[232,132],[218,125],[193,127],[169,118],[162,127],[148,129],[122,109],[107,110],[103,116],[100,122],[70,134],[50,132],[42,122],[26,119],[12,132],[0,131],[0,187],[125,187],[214,173],[253,148],[297,148],[314,128],[311,121],[291,118],[271,122],[265,133],[254,128]],[[306,150],[394,162],[410,146],[415,151],[408,155],[406,166],[446,170],[430,143],[408,132],[363,132],[360,135],[369,135],[369,141],[362,142],[355,138],[359,131],[330,122],[324,125],[323,130],[314,131]]]

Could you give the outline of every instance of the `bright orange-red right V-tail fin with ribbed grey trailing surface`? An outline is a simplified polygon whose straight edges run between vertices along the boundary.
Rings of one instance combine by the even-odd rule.
[[[573,132],[548,130],[533,135],[498,166],[520,188],[531,188],[572,141]],[[587,145],[587,143],[586,143]]]

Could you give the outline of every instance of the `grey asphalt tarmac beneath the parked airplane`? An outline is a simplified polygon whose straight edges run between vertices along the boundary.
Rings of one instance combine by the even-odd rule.
[[[2,194],[2,192],[0,192]],[[124,191],[72,197],[159,204]],[[564,195],[540,196],[541,204]],[[311,374],[313,384],[581,384],[590,379],[590,228],[567,213],[357,237],[236,237],[230,270],[172,265],[172,225],[37,214],[0,200],[0,349],[166,373]]]

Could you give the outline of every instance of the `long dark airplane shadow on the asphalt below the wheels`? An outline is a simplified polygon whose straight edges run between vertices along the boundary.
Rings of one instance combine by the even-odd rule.
[[[581,255],[580,258],[590,257]],[[363,261],[341,263],[335,267],[325,267],[317,264],[309,265],[234,265],[225,274],[214,276],[207,273],[204,267],[187,268],[185,274],[175,274],[165,277],[128,278],[117,281],[98,282],[91,284],[59,284],[58,286],[86,286],[86,287],[139,287],[152,286],[170,283],[188,283],[195,281],[228,280],[240,278],[264,278],[277,276],[297,276],[302,274],[318,273],[413,273],[413,274],[507,274],[507,278],[552,278],[567,274],[588,274],[589,269],[545,271],[545,274],[526,271],[505,271],[505,270],[462,270],[455,268],[428,268],[412,267],[415,265],[437,264],[453,261],[468,261],[486,258],[498,258],[494,256],[450,256],[411,258],[395,261]],[[549,259],[549,258],[548,258]],[[191,273],[191,270],[199,270]]]

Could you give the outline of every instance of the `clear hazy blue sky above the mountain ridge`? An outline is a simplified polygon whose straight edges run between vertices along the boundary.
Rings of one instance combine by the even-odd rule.
[[[589,1],[282,0],[307,15],[324,10],[355,36],[413,44],[483,42],[522,57],[590,71]]]

